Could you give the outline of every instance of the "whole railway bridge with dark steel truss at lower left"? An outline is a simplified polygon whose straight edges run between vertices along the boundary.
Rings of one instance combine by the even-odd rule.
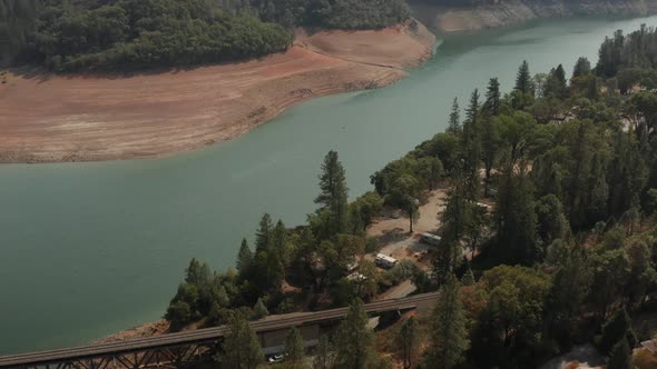
[[[438,292],[431,292],[375,301],[365,305],[365,311],[370,315],[411,309],[428,311],[437,298]],[[339,308],[271,316],[253,321],[251,327],[258,335],[292,327],[302,328],[340,320],[347,310],[349,308]],[[0,369],[185,368],[207,359],[208,352],[216,352],[227,331],[228,328],[222,326],[85,347],[3,356],[0,357]]]

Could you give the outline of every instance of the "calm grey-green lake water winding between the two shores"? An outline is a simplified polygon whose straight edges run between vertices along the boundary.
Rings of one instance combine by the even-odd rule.
[[[313,211],[323,156],[337,150],[351,196],[442,131],[451,100],[518,66],[532,73],[605,36],[654,26],[543,20],[447,36],[434,60],[392,87],[320,98],[232,142],[165,159],[0,166],[0,355],[84,345],[156,320],[190,258],[225,269],[263,212],[287,226]]]

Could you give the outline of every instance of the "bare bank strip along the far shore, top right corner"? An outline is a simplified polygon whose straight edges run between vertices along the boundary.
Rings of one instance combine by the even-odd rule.
[[[425,24],[441,31],[480,30],[521,23],[536,18],[572,16],[648,16],[657,0],[502,0],[478,7],[412,6]]]

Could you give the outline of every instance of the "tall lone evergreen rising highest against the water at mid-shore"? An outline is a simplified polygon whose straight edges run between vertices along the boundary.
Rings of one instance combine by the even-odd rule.
[[[315,203],[320,205],[318,212],[326,216],[324,236],[330,237],[344,233],[347,230],[347,187],[344,168],[337,158],[337,152],[331,150],[324,157],[322,174],[320,176],[320,195]]]

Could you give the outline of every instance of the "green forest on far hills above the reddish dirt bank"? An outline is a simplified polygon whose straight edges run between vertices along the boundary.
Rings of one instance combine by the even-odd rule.
[[[370,29],[408,17],[403,0],[0,0],[0,42],[55,71],[144,69],[284,51],[295,26]]]

